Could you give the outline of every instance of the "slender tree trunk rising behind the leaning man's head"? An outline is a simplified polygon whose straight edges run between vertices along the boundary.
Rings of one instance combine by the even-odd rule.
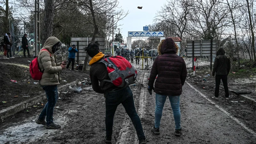
[[[92,13],[92,20],[93,20],[93,25],[94,25],[94,27],[93,27],[94,31],[93,31],[91,42],[94,42],[99,28],[98,28],[98,25],[96,23],[95,14],[94,14],[93,6],[92,6],[92,0],[89,0],[89,1],[90,1],[90,11]],[[83,69],[82,69],[83,71],[86,70],[86,68],[87,68],[88,60],[89,60],[89,55],[86,54],[86,57],[85,57],[85,60],[84,60],[84,66],[83,66]]]

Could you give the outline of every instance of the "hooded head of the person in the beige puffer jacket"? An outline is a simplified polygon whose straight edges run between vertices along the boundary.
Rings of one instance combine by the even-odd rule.
[[[47,40],[44,42],[44,47],[47,49],[49,52],[55,53],[57,51],[57,47],[61,45],[61,42],[58,38],[54,36],[50,36],[47,38]]]

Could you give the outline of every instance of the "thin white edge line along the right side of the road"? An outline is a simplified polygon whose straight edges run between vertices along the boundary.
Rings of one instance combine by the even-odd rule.
[[[209,98],[207,98],[203,93],[199,92],[196,88],[194,88],[191,84],[189,84],[188,82],[186,82],[192,89],[194,89],[196,92],[198,92],[201,96],[203,96],[206,100],[208,100],[209,102],[211,102],[213,105],[215,105],[215,107],[219,108],[222,112],[224,112],[226,115],[228,115],[230,118],[232,118],[234,121],[236,121],[237,124],[240,124],[245,130],[247,130],[248,132],[252,133],[253,136],[256,136],[256,133],[251,130],[250,128],[248,128],[245,124],[243,124],[242,122],[240,122],[238,119],[236,119],[235,117],[231,116],[226,110],[224,110],[223,108],[221,108],[219,105],[217,105],[216,103],[214,103],[212,100],[210,100]]]

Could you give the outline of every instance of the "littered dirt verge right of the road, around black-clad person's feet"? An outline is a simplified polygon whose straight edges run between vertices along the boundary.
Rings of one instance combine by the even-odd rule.
[[[244,71],[244,70],[243,70]],[[208,74],[210,76],[208,76]],[[210,72],[200,72],[198,71],[196,75],[201,76],[202,78],[192,75],[187,77],[187,82],[191,85],[195,86],[198,90],[200,90],[205,95],[214,96],[215,91],[215,77],[212,76]],[[256,74],[253,70],[246,70],[246,72],[237,72],[235,74],[230,74],[228,76],[228,88],[234,91],[249,91],[251,94],[246,94],[253,99],[256,98],[255,93],[255,80]],[[207,81],[202,81],[203,79]],[[221,82],[221,84],[222,82]],[[209,96],[209,98],[210,98]],[[256,107],[250,103],[245,102],[244,100],[240,100],[237,95],[230,93],[230,99],[225,100],[225,92],[224,89],[220,87],[220,99],[214,100],[218,105],[221,105],[227,110],[229,113],[234,115],[234,117],[239,118],[243,123],[247,124],[252,130],[256,131],[255,119],[256,119]],[[232,102],[233,101],[233,102]]]

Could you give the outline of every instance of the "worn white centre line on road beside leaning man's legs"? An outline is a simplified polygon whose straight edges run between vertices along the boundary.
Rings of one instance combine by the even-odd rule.
[[[141,81],[140,83],[143,84],[144,82],[144,79],[145,79],[145,74],[146,74],[146,71],[143,72],[142,74],[142,78],[141,78]],[[142,118],[144,116],[144,111],[145,111],[145,105],[146,105],[146,91],[144,88],[140,89],[137,88],[137,91],[140,91],[140,97],[139,97],[139,109],[137,110],[137,113],[138,115],[140,116],[140,118]],[[135,103],[135,102],[134,102]],[[125,119],[123,124],[122,124],[122,129],[120,130],[119,132],[119,135],[118,135],[118,138],[120,138],[119,140],[117,140],[116,144],[124,144],[124,143],[127,143],[127,137],[128,137],[128,134],[130,133],[131,129],[128,129],[130,126],[130,121],[128,119]],[[133,126],[133,125],[132,125]],[[135,143],[138,143],[138,137],[137,137],[137,134],[135,132],[134,134],[134,137],[135,137],[135,140],[134,142]]]

